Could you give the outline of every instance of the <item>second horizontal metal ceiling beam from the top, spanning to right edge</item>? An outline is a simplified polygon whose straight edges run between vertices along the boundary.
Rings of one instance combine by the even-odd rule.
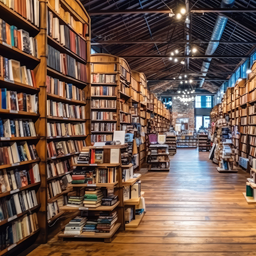
[[[215,42],[215,41],[211,41]],[[187,41],[173,41],[173,42],[167,42],[167,41],[115,41],[115,40],[106,40],[106,41],[98,41],[96,43],[91,43],[91,45],[102,45],[102,44],[186,44]],[[190,44],[209,44],[210,41],[191,41]],[[219,42],[220,44],[256,44],[256,41],[228,41],[228,42]]]

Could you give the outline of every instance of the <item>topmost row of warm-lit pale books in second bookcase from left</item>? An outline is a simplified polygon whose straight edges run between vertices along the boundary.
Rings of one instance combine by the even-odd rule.
[[[70,15],[70,12],[66,12],[60,5],[59,0],[49,0],[49,4],[52,8],[59,14],[62,20],[66,21],[78,34],[82,35],[84,38],[88,36],[88,24],[81,23],[81,21],[76,21],[75,18]]]

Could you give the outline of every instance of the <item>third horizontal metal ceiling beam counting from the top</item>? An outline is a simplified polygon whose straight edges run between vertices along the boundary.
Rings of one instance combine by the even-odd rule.
[[[184,56],[170,56],[170,55],[122,55],[118,56],[121,58],[170,58],[172,57],[173,59],[184,59]],[[250,56],[247,55],[203,55],[203,56],[188,56],[186,58],[191,58],[191,59],[204,59],[204,58],[249,58]]]

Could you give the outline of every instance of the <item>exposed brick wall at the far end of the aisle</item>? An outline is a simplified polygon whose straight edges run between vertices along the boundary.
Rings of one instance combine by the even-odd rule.
[[[172,125],[175,128],[177,118],[189,118],[189,129],[195,128],[195,101],[184,105],[179,99],[172,98]]]

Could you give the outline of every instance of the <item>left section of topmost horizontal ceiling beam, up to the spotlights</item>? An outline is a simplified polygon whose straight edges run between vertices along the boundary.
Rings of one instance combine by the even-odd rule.
[[[145,14],[145,13],[171,13],[170,9],[126,9],[126,10],[92,10],[88,14],[94,15],[115,15],[115,14]]]

